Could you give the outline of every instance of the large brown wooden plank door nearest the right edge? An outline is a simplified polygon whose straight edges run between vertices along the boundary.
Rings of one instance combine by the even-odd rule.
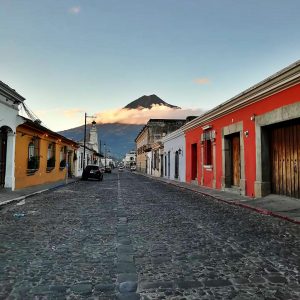
[[[300,198],[300,122],[271,129],[272,192]]]

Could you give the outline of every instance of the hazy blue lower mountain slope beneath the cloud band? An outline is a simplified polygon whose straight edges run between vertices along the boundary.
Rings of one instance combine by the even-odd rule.
[[[97,124],[98,141],[101,141],[101,151],[110,149],[110,154],[116,158],[122,158],[125,153],[135,149],[134,139],[137,137],[144,125],[133,124]],[[87,139],[89,136],[90,125],[87,125]],[[84,126],[60,131],[59,134],[74,141],[83,141]]]

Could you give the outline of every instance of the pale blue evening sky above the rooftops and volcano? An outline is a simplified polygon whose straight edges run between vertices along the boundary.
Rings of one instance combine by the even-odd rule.
[[[195,115],[298,60],[299,11],[299,0],[0,0],[0,80],[52,130],[84,112],[135,122],[120,109],[150,94]],[[174,116],[143,113],[157,112]]]

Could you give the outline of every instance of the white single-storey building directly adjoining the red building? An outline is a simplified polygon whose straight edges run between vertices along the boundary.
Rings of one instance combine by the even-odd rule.
[[[185,181],[185,136],[181,128],[166,135],[164,144],[164,177],[171,180]]]

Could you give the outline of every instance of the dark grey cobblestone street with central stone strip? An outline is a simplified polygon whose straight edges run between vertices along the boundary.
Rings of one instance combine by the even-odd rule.
[[[0,299],[300,299],[300,227],[144,176],[0,211]]]

